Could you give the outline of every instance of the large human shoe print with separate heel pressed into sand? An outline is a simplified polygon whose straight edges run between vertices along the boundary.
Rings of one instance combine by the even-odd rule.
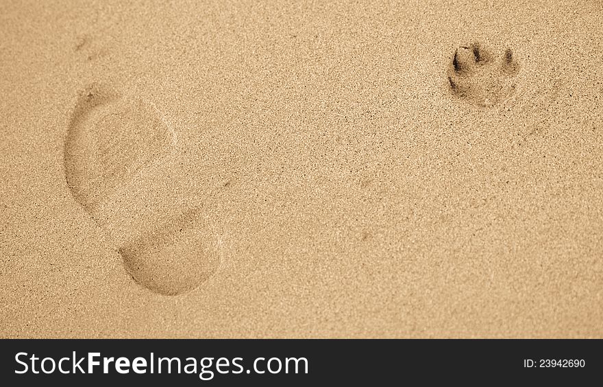
[[[142,172],[153,174],[175,152],[176,136],[159,111],[138,96],[92,84],[75,104],[64,148],[73,197],[108,233],[107,202],[130,189]],[[121,211],[132,211],[121,209]],[[219,254],[197,209],[164,221],[144,235],[110,235],[124,266],[140,285],[160,294],[197,288],[216,272]]]

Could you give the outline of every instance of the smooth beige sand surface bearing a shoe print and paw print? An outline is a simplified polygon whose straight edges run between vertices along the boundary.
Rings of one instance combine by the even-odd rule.
[[[603,338],[602,25],[0,2],[0,336]]]

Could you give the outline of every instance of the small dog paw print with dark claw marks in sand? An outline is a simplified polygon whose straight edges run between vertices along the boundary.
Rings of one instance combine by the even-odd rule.
[[[448,68],[450,90],[458,99],[488,108],[515,93],[519,64],[511,49],[496,58],[479,43],[456,49]]]

